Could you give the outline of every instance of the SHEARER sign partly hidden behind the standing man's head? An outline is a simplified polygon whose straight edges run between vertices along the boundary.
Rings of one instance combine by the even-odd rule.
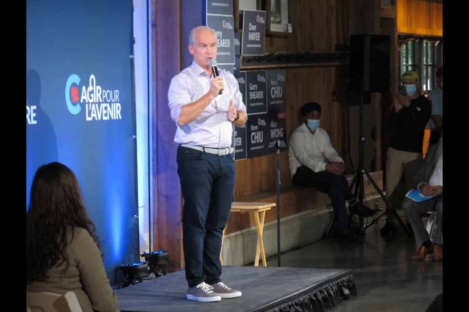
[[[207,26],[213,29],[216,36],[218,64],[235,64],[233,24],[233,16],[207,15]]]

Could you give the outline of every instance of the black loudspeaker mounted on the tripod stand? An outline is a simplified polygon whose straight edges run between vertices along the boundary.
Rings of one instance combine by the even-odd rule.
[[[391,39],[385,35],[350,36],[350,87],[357,91],[389,91]]]

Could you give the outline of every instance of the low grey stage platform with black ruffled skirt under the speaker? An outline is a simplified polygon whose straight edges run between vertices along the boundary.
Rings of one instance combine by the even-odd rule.
[[[351,270],[223,266],[223,281],[243,293],[217,302],[186,299],[184,270],[116,291],[122,312],[324,311],[357,294]]]

